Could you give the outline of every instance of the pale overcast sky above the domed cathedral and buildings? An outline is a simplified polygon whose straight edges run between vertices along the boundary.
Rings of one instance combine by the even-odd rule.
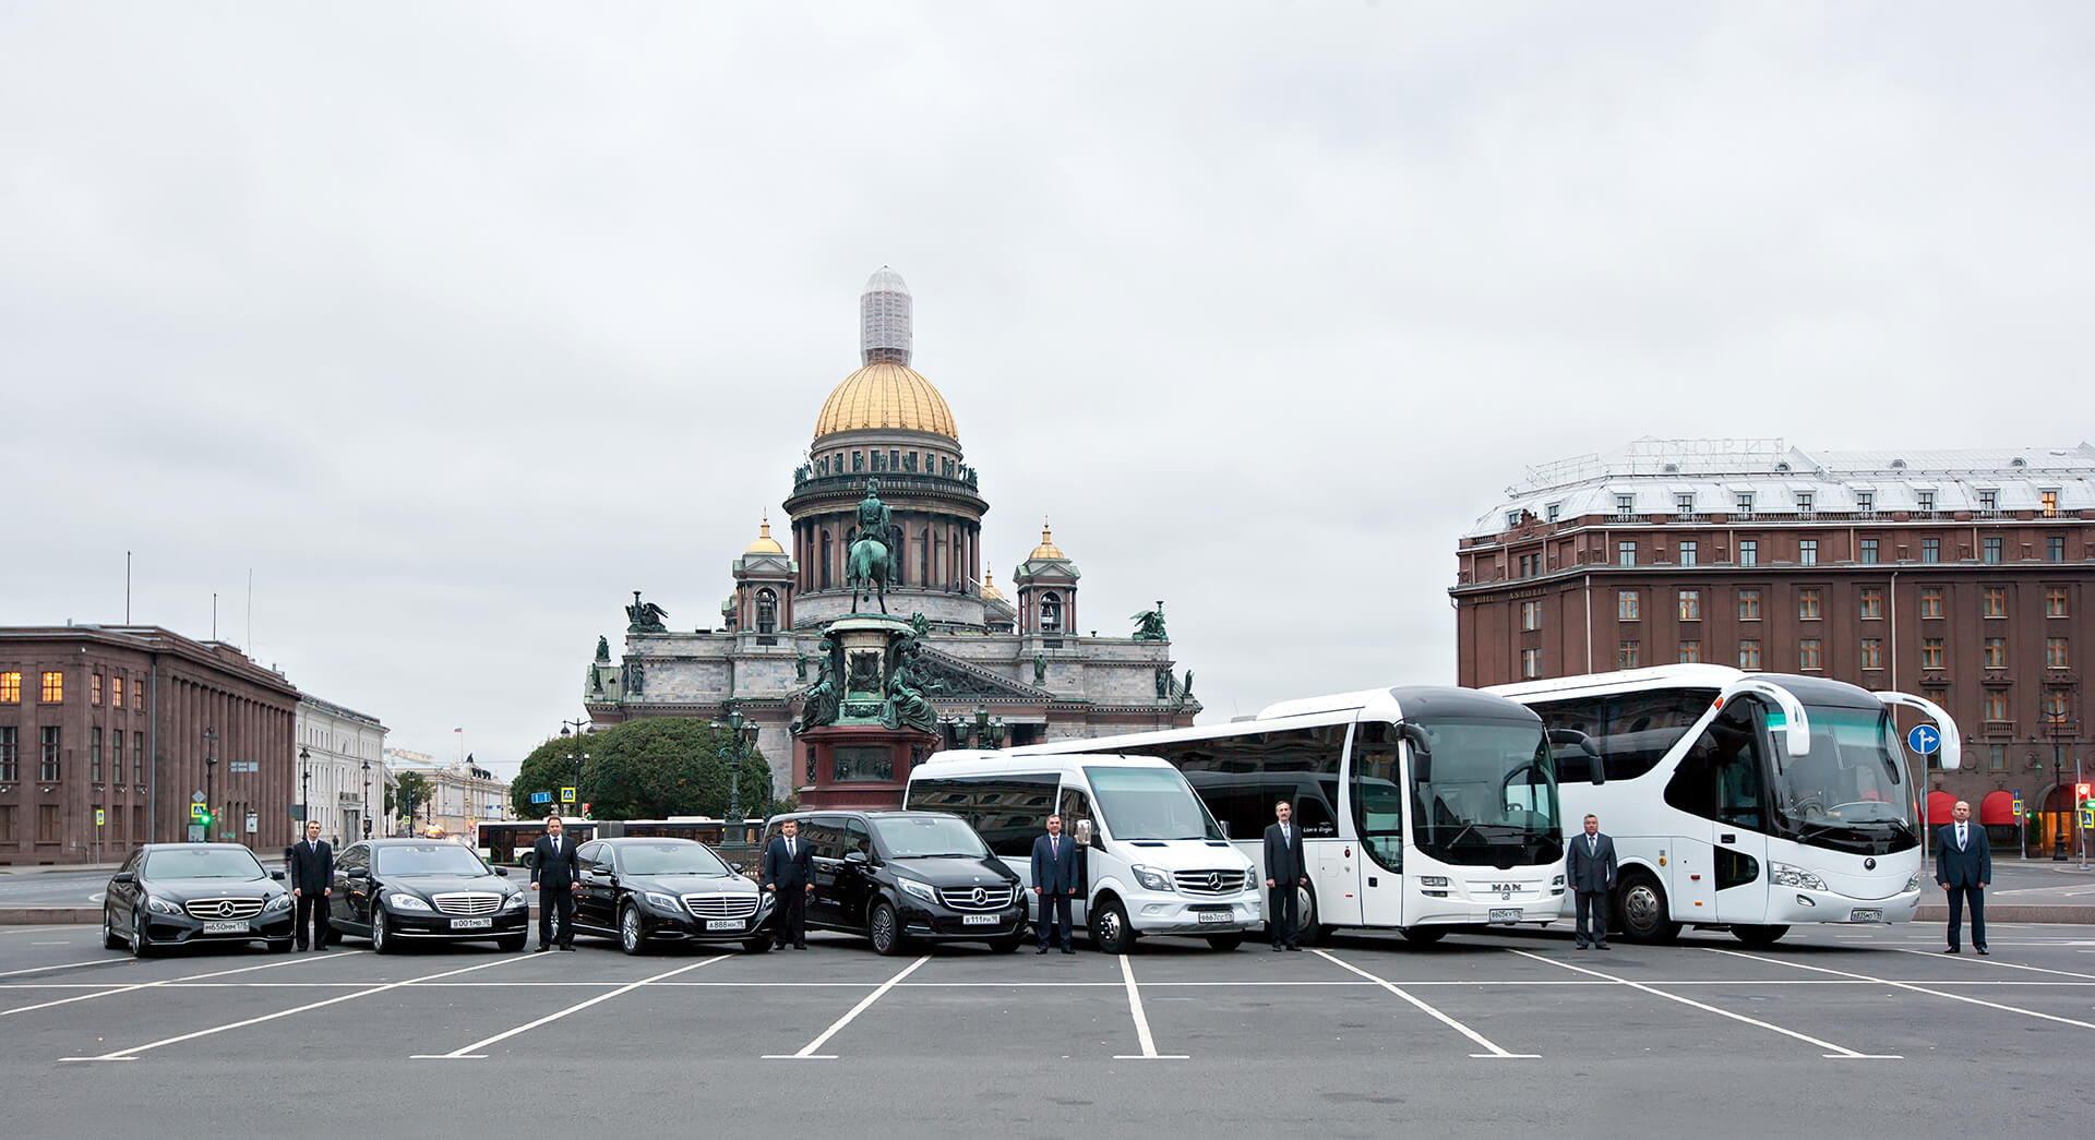
[[[719,624],[882,264],[997,583],[1052,518],[1207,721],[1452,681],[1529,463],[2095,436],[2082,4],[781,8],[0,8],[0,624],[136,551],[513,769]]]

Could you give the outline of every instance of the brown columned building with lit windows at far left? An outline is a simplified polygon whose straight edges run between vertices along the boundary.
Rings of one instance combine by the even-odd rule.
[[[295,708],[297,689],[233,645],[157,627],[0,629],[0,863],[189,838],[205,788],[212,838],[283,851]]]

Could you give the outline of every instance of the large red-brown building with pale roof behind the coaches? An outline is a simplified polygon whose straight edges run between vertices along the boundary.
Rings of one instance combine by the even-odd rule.
[[[2070,784],[2089,742],[2095,446],[1638,440],[1531,469],[1456,560],[1462,685],[1712,662],[1902,689],[1965,736],[1934,788],[2070,805],[2053,759]]]

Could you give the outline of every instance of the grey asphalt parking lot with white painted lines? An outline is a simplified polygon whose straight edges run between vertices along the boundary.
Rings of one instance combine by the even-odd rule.
[[[134,962],[90,926],[0,928],[0,1065],[38,1092],[10,1136],[260,1136],[293,1115],[312,1136],[2078,1125],[2095,928],[1997,924],[1992,958],[1940,945],[1900,926],[1766,951],[1498,933],[878,958],[817,935],[763,956],[346,943]]]

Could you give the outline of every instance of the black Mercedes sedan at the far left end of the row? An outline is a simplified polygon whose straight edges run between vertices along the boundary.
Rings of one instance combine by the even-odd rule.
[[[149,842],[109,876],[103,945],[138,958],[170,945],[266,941],[291,949],[291,893],[237,842]]]

